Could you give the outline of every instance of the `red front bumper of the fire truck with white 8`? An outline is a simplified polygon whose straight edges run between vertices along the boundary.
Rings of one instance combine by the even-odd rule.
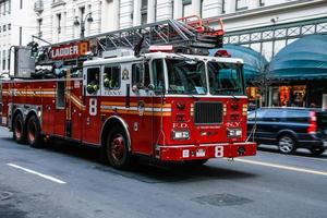
[[[234,158],[256,155],[256,143],[220,143],[203,145],[157,146],[156,157],[166,161],[209,158]]]

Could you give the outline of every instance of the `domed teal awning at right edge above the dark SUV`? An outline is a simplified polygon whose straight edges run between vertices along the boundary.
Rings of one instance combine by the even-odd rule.
[[[269,63],[276,80],[327,78],[327,36],[306,36],[281,49]]]

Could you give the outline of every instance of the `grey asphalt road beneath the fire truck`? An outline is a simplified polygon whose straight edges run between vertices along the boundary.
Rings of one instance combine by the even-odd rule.
[[[258,152],[201,168],[98,162],[69,144],[19,145],[0,128],[0,218],[327,217],[327,154]]]

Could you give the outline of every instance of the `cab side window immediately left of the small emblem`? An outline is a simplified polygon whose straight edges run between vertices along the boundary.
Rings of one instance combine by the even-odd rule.
[[[120,88],[120,66],[105,66],[104,87],[106,89]]]

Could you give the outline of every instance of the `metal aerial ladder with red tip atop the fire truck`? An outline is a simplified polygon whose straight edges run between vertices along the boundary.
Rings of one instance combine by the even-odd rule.
[[[211,27],[213,24],[218,27]],[[222,47],[223,35],[221,19],[203,20],[197,15],[192,15],[47,45],[39,48],[37,64],[51,62],[50,50],[52,47],[82,40],[89,41],[93,55],[99,58],[105,51],[119,48],[135,49],[140,47],[142,52],[147,52],[150,46],[162,45],[174,45],[178,49],[175,52],[187,52],[187,49],[196,49],[197,55],[207,55],[208,49]]]

